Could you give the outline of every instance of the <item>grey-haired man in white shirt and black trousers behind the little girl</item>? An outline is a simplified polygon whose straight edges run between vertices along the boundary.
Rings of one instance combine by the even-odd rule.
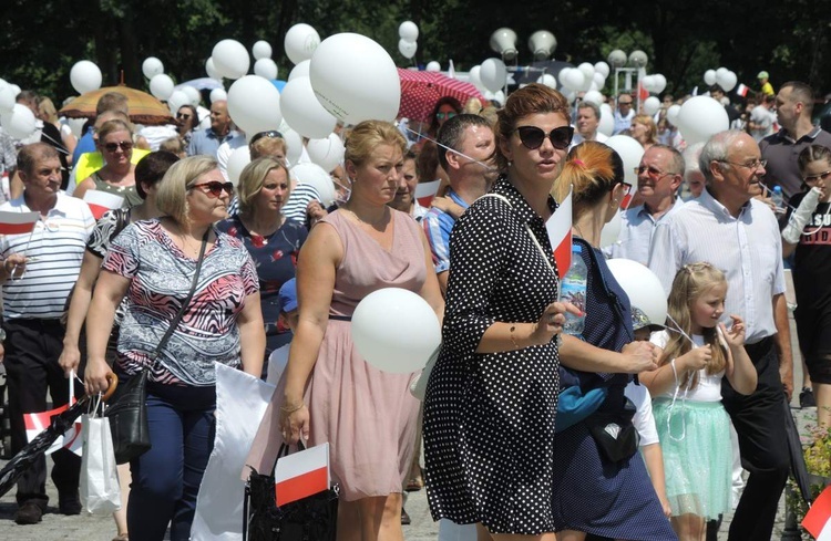
[[[765,160],[750,135],[716,134],[699,163],[707,187],[658,226],[649,268],[667,293],[687,263],[708,261],[727,275],[722,321],[729,324],[730,314],[745,319],[745,348],[759,375],[749,396],[736,393],[727,378],[721,386],[742,464],[750,471],[729,539],[771,539],[790,466],[782,400],[790,399],[793,389],[782,242],[770,207],[756,199],[762,193]]]

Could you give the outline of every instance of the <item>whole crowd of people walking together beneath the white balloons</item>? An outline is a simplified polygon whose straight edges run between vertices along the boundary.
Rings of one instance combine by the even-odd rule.
[[[39,215],[31,232],[0,236],[12,451],[24,413],[66,404],[68,377],[92,394],[110,373],[124,384],[146,371],[153,445],[119,470],[115,540],[188,539],[214,446],[215,363],[266,378],[290,344],[246,464],[269,471],[284,443],[328,443],[338,539],[403,540],[407,492],[422,487],[432,517],[472,524],[470,540],[700,541],[733,509],[730,539],[770,539],[798,353],[786,269],[803,394],[812,386],[831,424],[831,135],[811,122],[810,86],[763,84],[766,112],[689,147],[666,118],[671,96],[655,115],[617,96],[614,133],[644,148],[637,186],[604,143],[599,107],[541,84],[501,107],[442,98],[416,141],[381,121],[338,126],[329,206],[290,170],[304,149],[237,131],[224,101],[204,128],[181,107],[173,145],[148,143],[124,96],[106,94],[71,142],[50,101],[21,93],[43,122],[17,145],[0,133],[0,211]],[[243,145],[252,162],[232,183]],[[419,201],[430,181],[435,197]],[[122,208],[96,221],[83,200],[94,190]],[[560,301],[546,232],[570,193],[582,310]],[[658,277],[666,321],[630,304],[616,258]],[[419,373],[380,371],[352,342],[358,303],[391,287],[442,322],[423,403],[410,393]],[[577,335],[567,315],[585,316]],[[52,458],[59,511],[79,514],[80,459]],[[18,523],[41,521],[45,476],[40,459],[20,479]]]

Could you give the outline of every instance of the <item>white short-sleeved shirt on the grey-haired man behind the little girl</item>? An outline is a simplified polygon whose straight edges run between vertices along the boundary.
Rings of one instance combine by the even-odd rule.
[[[687,263],[708,261],[727,277],[721,321],[745,319],[748,344],[772,336],[773,295],[784,293],[782,239],[770,207],[750,199],[738,218],[705,189],[655,228],[649,269],[669,294],[675,274]]]

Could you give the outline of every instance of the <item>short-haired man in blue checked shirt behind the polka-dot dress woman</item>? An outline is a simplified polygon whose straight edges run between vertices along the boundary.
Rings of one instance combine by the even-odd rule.
[[[456,115],[439,131],[439,164],[447,171],[450,188],[448,210],[431,208],[422,223],[433,256],[441,292],[448,290],[450,271],[450,231],[455,220],[495,180],[491,158],[496,149],[491,125],[478,115]]]

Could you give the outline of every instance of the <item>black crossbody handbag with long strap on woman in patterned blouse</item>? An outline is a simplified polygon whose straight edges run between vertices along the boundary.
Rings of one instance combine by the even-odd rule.
[[[205,231],[205,236],[202,238],[202,248],[199,249],[199,257],[196,261],[196,271],[191,282],[191,291],[182,302],[176,315],[171,322],[171,326],[167,327],[167,332],[164,333],[162,340],[158,341],[156,350],[153,352],[151,365],[127,378],[126,382],[119,385],[115,393],[110,398],[110,407],[104,412],[104,416],[110,419],[110,431],[113,436],[113,450],[115,451],[115,464],[125,464],[134,458],[138,458],[144,455],[151,448],[150,441],[150,428],[147,427],[147,376],[151,368],[156,364],[158,355],[162,354],[162,350],[167,344],[173,332],[176,330],[176,325],[182,321],[182,316],[185,314],[187,305],[193,299],[193,294],[196,291],[196,283],[199,280],[199,270],[202,269],[202,258],[205,254],[205,248],[207,247],[208,235],[211,229]]]

